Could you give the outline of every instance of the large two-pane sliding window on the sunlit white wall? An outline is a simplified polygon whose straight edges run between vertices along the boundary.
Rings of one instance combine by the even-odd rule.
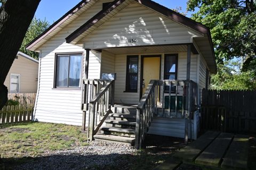
[[[55,67],[55,88],[81,86],[82,54],[57,55]]]

